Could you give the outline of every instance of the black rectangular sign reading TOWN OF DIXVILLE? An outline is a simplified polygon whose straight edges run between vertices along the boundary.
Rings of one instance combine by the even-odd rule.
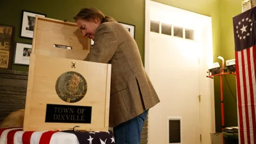
[[[91,106],[47,104],[45,122],[90,124]]]

